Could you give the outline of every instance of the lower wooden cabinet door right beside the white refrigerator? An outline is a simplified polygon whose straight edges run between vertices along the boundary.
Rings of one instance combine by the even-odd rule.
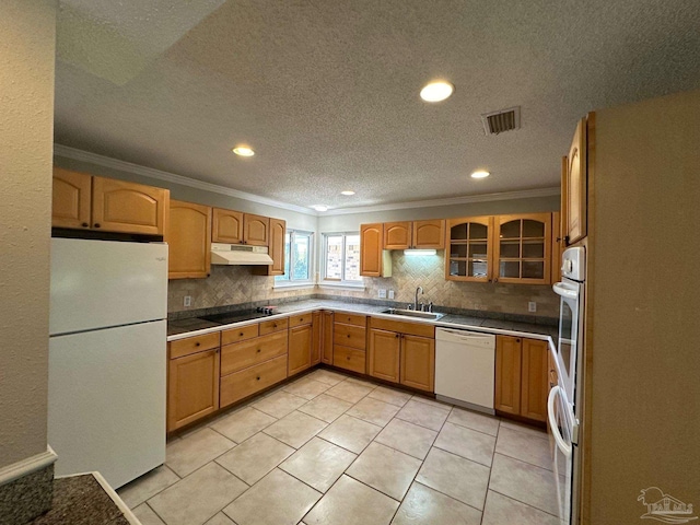
[[[167,430],[179,429],[219,408],[219,349],[171,359]]]

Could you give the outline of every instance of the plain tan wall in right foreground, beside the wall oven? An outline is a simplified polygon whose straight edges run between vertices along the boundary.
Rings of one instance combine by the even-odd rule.
[[[588,523],[641,523],[649,487],[697,515],[700,91],[596,118]]]

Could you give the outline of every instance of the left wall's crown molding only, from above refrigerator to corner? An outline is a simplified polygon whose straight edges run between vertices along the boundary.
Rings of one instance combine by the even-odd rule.
[[[58,156],[65,156],[74,161],[84,161],[98,166],[112,167],[114,170],[121,170],[124,172],[133,173],[136,175],[142,175],[144,177],[155,178],[158,180],[165,180],[167,183],[180,184],[190,188],[203,189],[205,191],[212,191],[214,194],[228,195],[229,197],[235,197],[243,200],[249,200],[250,202],[257,202],[259,205],[273,206],[275,208],[281,208],[283,210],[295,211],[298,213],[304,213],[306,215],[318,217],[318,212],[310,210],[303,206],[290,205],[281,202],[275,199],[268,199],[267,197],[260,197],[259,195],[248,194],[246,191],[238,191],[237,189],[226,188],[218,184],[205,183],[194,178],[177,175],[175,173],[163,172],[153,167],[141,166],[140,164],[133,164],[131,162],[119,161],[118,159],[112,159],[110,156],[98,155],[90,151],[78,150],[62,144],[54,144],[54,154]]]

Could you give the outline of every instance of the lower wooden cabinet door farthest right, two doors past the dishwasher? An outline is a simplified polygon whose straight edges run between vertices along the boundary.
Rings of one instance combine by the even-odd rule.
[[[523,339],[521,416],[547,421],[549,365],[547,341]]]

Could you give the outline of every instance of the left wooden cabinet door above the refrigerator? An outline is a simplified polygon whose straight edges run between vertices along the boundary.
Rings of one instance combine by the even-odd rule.
[[[92,176],[54,166],[51,226],[90,228]]]

